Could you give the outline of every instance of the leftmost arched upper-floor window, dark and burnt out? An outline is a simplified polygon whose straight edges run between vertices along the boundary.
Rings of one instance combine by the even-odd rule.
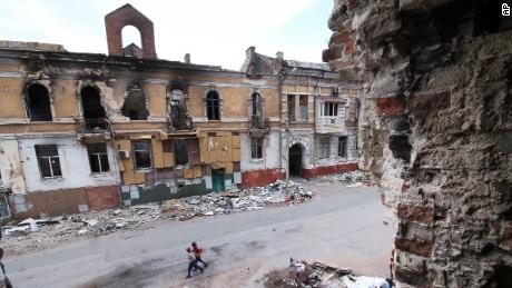
[[[51,121],[51,107],[48,89],[42,85],[27,88],[27,110],[31,121]]]

